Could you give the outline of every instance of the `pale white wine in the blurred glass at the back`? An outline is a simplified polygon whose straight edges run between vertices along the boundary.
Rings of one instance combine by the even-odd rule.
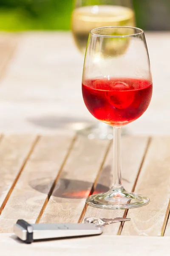
[[[135,26],[134,12],[131,8],[114,5],[83,6],[74,9],[72,32],[82,54],[85,54],[90,30],[101,26]]]

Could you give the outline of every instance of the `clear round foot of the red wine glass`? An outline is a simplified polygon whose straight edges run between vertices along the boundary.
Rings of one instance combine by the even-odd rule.
[[[132,209],[148,204],[149,198],[125,189],[109,190],[105,193],[90,195],[86,202],[92,206],[102,209]]]

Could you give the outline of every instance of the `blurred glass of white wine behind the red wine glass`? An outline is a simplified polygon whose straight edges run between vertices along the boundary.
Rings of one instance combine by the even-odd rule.
[[[88,41],[91,29],[101,26],[135,26],[135,15],[131,0],[76,0],[72,13],[71,29],[74,41],[82,53]],[[112,129],[101,122],[79,130],[90,139],[112,139]]]

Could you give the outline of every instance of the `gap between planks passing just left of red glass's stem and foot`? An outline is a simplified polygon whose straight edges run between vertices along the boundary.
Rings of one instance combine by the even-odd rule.
[[[93,195],[93,192],[94,192],[94,190],[96,189],[97,182],[98,182],[98,180],[99,180],[99,176],[100,176],[101,171],[102,171],[102,167],[103,167],[103,165],[104,165],[104,163],[105,163],[105,160],[106,160],[106,157],[107,157],[107,155],[108,155],[108,152],[109,152],[109,150],[110,150],[110,148],[111,148],[111,145],[112,145],[112,140],[111,140],[111,142],[108,144],[108,147],[106,148],[106,152],[105,152],[105,155],[104,155],[104,157],[103,157],[101,166],[100,166],[100,168],[99,168],[99,172],[98,172],[98,174],[97,174],[97,176],[96,176],[96,179],[95,179],[95,181],[94,181],[94,184],[93,184],[93,186],[92,186],[92,188],[91,188],[91,191],[90,191],[89,195]],[[84,218],[84,216],[85,216],[85,212],[86,212],[87,208],[88,208],[88,204],[85,203],[85,206],[84,206],[84,208],[83,208],[83,210],[82,210],[82,213],[80,214],[78,223],[82,223],[82,220],[83,220],[83,218]]]

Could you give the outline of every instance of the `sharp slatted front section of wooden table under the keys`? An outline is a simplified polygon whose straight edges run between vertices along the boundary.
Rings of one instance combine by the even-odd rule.
[[[170,137],[122,137],[123,183],[150,198],[138,209],[89,207],[89,194],[111,186],[112,142],[72,133],[0,137],[0,256],[170,255]],[[101,236],[23,244],[12,235],[19,218],[30,223],[80,223],[85,217],[127,216]],[[118,236],[116,236],[118,235]],[[164,237],[161,237],[164,236]]]

